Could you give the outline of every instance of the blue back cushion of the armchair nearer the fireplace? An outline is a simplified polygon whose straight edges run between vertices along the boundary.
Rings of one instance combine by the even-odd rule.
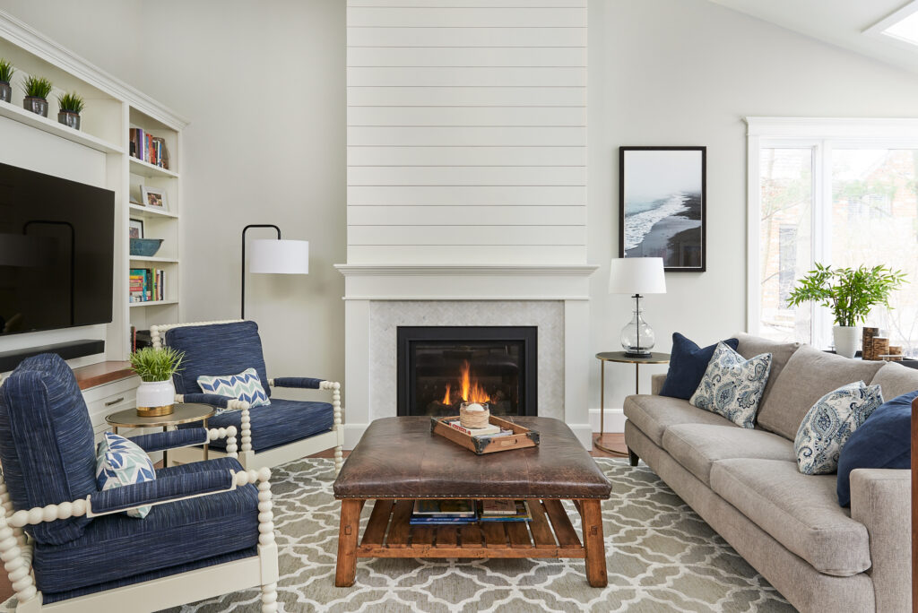
[[[254,368],[264,383],[265,395],[271,396],[262,339],[254,321],[168,329],[165,344],[185,353],[181,370],[173,375],[178,394],[200,394],[199,376],[223,376]]]

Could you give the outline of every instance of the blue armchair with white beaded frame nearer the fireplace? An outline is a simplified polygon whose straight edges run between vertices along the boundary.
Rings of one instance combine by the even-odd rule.
[[[227,409],[210,418],[208,424],[235,426],[241,432],[240,463],[245,468],[277,466],[311,453],[334,448],[335,470],[341,470],[343,429],[341,427],[341,384],[324,379],[269,379],[265,372],[262,340],[254,321],[212,321],[169,326],[152,326],[153,347],[183,351],[182,367],[173,376],[177,402],[200,402]],[[204,394],[199,376],[225,377],[254,368],[270,405],[250,407],[248,402],[228,396]],[[331,403],[285,400],[272,396],[273,387],[328,390]],[[193,426],[193,425],[189,425]],[[219,456],[225,451],[220,441],[210,445]],[[170,462],[196,462],[199,452],[179,450],[169,454]]]

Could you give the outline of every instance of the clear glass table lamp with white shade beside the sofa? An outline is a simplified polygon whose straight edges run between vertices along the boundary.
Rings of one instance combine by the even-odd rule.
[[[654,348],[654,330],[641,311],[642,294],[666,294],[663,258],[613,258],[610,262],[609,293],[630,294],[634,316],[621,329],[621,346],[628,357],[649,358]]]

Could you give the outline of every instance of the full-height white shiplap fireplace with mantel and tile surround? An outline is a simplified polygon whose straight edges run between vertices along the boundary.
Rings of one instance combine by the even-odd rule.
[[[399,326],[538,329],[588,426],[587,1],[348,0],[345,445],[397,411]]]

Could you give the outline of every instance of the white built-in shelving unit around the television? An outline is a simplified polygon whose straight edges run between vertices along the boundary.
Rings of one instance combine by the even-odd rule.
[[[20,126],[34,128],[36,136],[23,135],[22,128],[10,125],[19,139],[34,141],[35,150],[48,147],[43,132],[87,148],[84,157],[104,154],[105,179],[100,184],[115,192],[115,267],[112,322],[104,327],[84,330],[97,338],[104,331],[106,360],[125,360],[129,352],[131,326],[149,329],[158,323],[181,321],[180,256],[182,202],[182,130],[187,120],[171,109],[162,106],[150,96],[142,94],[128,84],[100,70],[83,58],[63,49],[26,24],[4,11],[0,11],[0,58],[12,62],[13,99],[0,102],[0,128],[6,120]],[[21,80],[28,75],[44,76],[54,84],[49,96],[49,117],[40,117],[22,108]],[[82,95],[85,108],[82,129],[74,130],[57,122],[57,95],[62,92]],[[169,154],[169,168],[143,162],[130,155],[129,129],[142,128],[155,137],[164,139]],[[0,136],[4,132],[0,131]],[[4,143],[8,145],[8,143]],[[81,155],[77,149],[77,155]],[[2,151],[0,151],[2,154]],[[0,155],[0,161],[6,156]],[[13,162],[8,162],[13,163]],[[66,163],[66,162],[64,162]],[[80,177],[68,177],[79,181]],[[84,183],[91,183],[84,181]],[[95,184],[99,184],[95,179]],[[132,203],[140,199],[140,186],[162,189],[166,194],[164,209]],[[162,246],[153,257],[129,254],[129,219],[143,221],[144,238],[162,239]],[[156,268],[165,272],[165,299],[149,302],[129,302],[129,274],[131,268]],[[103,329],[100,331],[100,329]],[[80,334],[78,330],[73,334]],[[66,331],[53,339],[67,340]],[[46,344],[47,337],[35,344]]]

